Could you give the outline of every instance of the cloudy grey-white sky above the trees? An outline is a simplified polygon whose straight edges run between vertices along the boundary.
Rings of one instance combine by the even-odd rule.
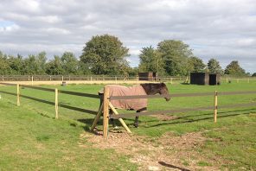
[[[4,54],[73,52],[93,35],[115,35],[138,66],[142,48],[181,40],[205,63],[223,69],[239,60],[256,73],[255,0],[1,0],[0,51]]]

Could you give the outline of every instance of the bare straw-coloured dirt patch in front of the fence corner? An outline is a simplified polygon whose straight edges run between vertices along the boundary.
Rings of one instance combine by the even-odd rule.
[[[213,161],[196,151],[205,140],[200,132],[150,138],[113,131],[107,141],[101,132],[96,135],[85,132],[80,135],[79,146],[115,149],[117,153],[131,156],[130,161],[138,163],[139,170],[219,170]],[[200,162],[204,166],[200,166]]]

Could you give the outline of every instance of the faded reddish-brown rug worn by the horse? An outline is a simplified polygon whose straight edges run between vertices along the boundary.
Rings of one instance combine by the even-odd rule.
[[[147,95],[142,85],[106,85],[109,87],[110,96],[138,96]],[[99,93],[103,93],[101,90]],[[118,109],[138,111],[147,107],[147,98],[111,100],[112,105]]]

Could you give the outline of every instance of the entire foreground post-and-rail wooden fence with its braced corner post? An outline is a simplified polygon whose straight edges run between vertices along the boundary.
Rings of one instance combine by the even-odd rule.
[[[16,85],[16,84],[10,84],[10,83],[1,83],[2,85]],[[31,98],[29,96],[22,95],[20,87],[27,87],[35,90],[41,90],[41,91],[47,91],[47,92],[54,92],[55,93],[55,102],[48,102],[46,100],[38,99],[38,98]],[[0,91],[3,92],[3,91]],[[99,117],[101,116],[101,111],[103,111],[103,135],[105,138],[107,138],[108,135],[108,123],[110,118],[118,119],[123,126],[125,127],[125,130],[128,132],[131,132],[129,128],[126,126],[125,122],[122,118],[128,118],[128,117],[139,117],[139,116],[149,116],[149,115],[159,115],[159,114],[168,114],[168,113],[175,113],[175,112],[187,112],[187,111],[207,111],[207,110],[213,110],[214,111],[214,123],[217,122],[217,113],[218,109],[220,108],[234,108],[234,107],[249,107],[249,106],[256,106],[256,103],[248,103],[248,104],[226,104],[226,105],[219,105],[218,104],[218,96],[225,96],[225,95],[240,95],[240,94],[254,94],[256,91],[247,91],[247,92],[202,92],[202,93],[180,93],[180,94],[170,94],[170,95],[139,95],[139,96],[109,96],[109,89],[105,87],[104,89],[104,101],[102,106],[100,106],[99,111],[90,111],[86,109],[77,108],[74,106],[68,106],[65,104],[58,104],[58,94],[64,93],[68,95],[74,95],[74,96],[80,96],[80,97],[86,97],[86,98],[99,98],[96,94],[89,94],[89,93],[83,93],[83,92],[70,92],[70,91],[62,91],[58,89],[51,89],[51,88],[45,88],[45,87],[39,87],[39,86],[31,86],[31,85],[16,85],[16,93],[12,92],[4,92],[11,95],[16,95],[17,98],[17,105],[20,105],[20,97],[22,98],[29,98],[33,100],[37,100],[43,103],[47,104],[54,104],[55,106],[55,118],[59,117],[58,114],[58,107],[64,107],[70,110],[74,111],[82,111],[86,113],[91,113],[96,115],[93,126],[94,128],[99,120]],[[201,96],[212,96],[213,97],[213,106],[207,106],[207,107],[198,107],[198,108],[185,108],[185,109],[177,109],[177,110],[167,110],[167,111],[147,111],[147,112],[140,112],[140,113],[130,113],[130,114],[118,114],[118,112],[113,108],[111,104],[111,100],[120,100],[120,99],[138,99],[138,98],[179,98],[179,97],[201,97]],[[114,111],[114,115],[109,115],[109,109]]]

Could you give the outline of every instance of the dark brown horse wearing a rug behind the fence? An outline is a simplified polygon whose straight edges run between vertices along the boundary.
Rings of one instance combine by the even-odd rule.
[[[162,94],[166,101],[170,101],[170,93],[164,83],[144,83],[140,85],[124,86],[124,85],[106,85],[109,87],[110,96],[136,96],[136,95],[155,95]],[[103,103],[104,91],[99,91],[100,104]],[[112,105],[117,109],[125,109],[129,111],[144,112],[147,111],[147,98],[138,99],[120,99],[111,100]],[[112,110],[110,111],[112,114]],[[116,128],[113,118],[112,125]],[[135,117],[134,127],[138,128],[138,117]]]

